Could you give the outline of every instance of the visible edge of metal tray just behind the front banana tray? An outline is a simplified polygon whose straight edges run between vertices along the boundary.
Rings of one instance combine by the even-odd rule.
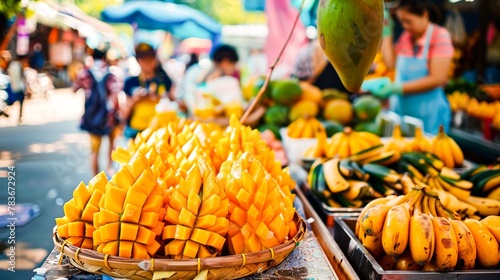
[[[314,208],[318,216],[323,220],[326,226],[333,227],[335,224],[334,218],[336,216],[342,217],[358,217],[363,208],[348,208],[348,207],[330,207],[322,202],[310,189],[309,186],[304,185],[301,188],[302,192],[307,197],[307,200]]]

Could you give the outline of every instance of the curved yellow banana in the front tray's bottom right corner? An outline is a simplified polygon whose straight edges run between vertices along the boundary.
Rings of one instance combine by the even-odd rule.
[[[485,268],[498,265],[498,242],[488,228],[478,220],[466,219],[465,225],[472,232],[477,248],[477,262]]]

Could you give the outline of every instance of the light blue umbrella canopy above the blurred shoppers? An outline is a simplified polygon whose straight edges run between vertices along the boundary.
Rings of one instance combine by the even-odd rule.
[[[217,41],[221,26],[204,13],[182,4],[160,1],[127,1],[106,8],[102,20],[136,24],[139,29],[165,30],[179,39],[190,37]]]

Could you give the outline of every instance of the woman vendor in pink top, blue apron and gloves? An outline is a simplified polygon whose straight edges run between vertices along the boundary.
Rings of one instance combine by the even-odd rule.
[[[451,111],[443,85],[454,48],[448,31],[439,22],[437,7],[426,0],[402,0],[397,9],[404,32],[396,44],[395,82],[383,80],[372,93],[386,99],[399,115],[422,119],[424,131],[436,134],[439,125],[448,131]]]

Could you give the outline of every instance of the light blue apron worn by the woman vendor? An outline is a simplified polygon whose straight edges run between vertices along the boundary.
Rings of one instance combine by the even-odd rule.
[[[396,83],[404,83],[429,75],[428,54],[434,26],[427,29],[426,41],[422,57],[399,55],[396,61]],[[451,110],[442,87],[430,91],[402,96],[391,96],[390,109],[404,116],[419,118],[424,122],[424,131],[436,135],[439,125],[448,132],[451,121]]]

